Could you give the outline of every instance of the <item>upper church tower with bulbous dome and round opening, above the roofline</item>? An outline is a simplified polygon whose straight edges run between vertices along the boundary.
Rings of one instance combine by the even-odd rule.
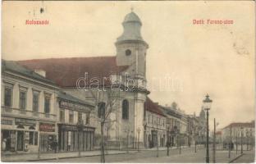
[[[117,66],[130,66],[127,70],[130,77],[145,79],[146,54],[149,48],[140,34],[141,21],[131,11],[122,22],[123,33],[117,38]]]

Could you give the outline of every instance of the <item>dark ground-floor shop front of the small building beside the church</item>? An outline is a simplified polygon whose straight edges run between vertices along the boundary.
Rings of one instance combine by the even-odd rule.
[[[59,151],[90,151],[94,150],[94,128],[76,125],[58,125]]]

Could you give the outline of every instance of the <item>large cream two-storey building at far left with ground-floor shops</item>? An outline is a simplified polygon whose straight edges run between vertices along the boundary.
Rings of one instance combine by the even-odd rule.
[[[1,87],[2,151],[52,149],[57,139],[57,85],[16,62],[2,60]]]

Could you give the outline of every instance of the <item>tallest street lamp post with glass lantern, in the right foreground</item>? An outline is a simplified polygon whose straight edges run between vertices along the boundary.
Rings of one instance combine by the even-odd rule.
[[[205,99],[203,100],[203,108],[204,110],[206,110],[206,162],[209,163],[210,162],[210,158],[209,158],[209,110],[211,108],[211,104],[212,104],[213,100],[211,100],[209,98],[209,95],[207,94]]]

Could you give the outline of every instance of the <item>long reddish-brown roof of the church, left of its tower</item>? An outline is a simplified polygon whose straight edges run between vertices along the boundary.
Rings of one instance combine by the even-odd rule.
[[[112,73],[119,73],[128,68],[128,66],[117,66],[116,57],[48,58],[19,61],[19,63],[31,70],[46,71],[47,79],[64,88],[76,87],[76,81],[85,78],[85,72],[88,73],[86,85],[92,78],[97,78],[100,84],[103,84],[103,77],[108,78]]]

